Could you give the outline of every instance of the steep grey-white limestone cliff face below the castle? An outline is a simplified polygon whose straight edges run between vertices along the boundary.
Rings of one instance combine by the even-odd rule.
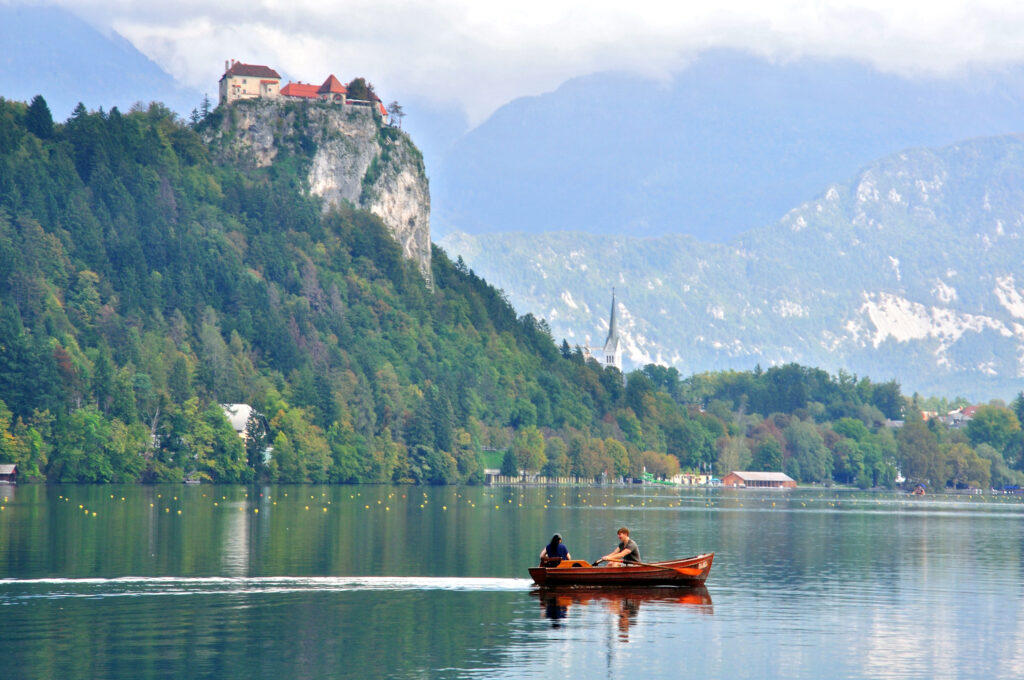
[[[423,157],[409,136],[368,108],[251,100],[222,112],[206,133],[214,153],[250,167],[280,157],[308,160],[309,192],[324,210],[346,201],[386,224],[429,281],[430,190]]]

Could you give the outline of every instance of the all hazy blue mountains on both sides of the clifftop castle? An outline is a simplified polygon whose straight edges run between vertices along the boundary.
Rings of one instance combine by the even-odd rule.
[[[0,6],[0,95],[42,93],[58,120],[202,98],[65,9]],[[1009,396],[1022,93],[1019,67],[909,79],[717,50],[663,81],[578,78],[469,131],[407,100],[406,128],[439,243],[558,338],[601,344],[616,287],[627,368],[799,360]]]

